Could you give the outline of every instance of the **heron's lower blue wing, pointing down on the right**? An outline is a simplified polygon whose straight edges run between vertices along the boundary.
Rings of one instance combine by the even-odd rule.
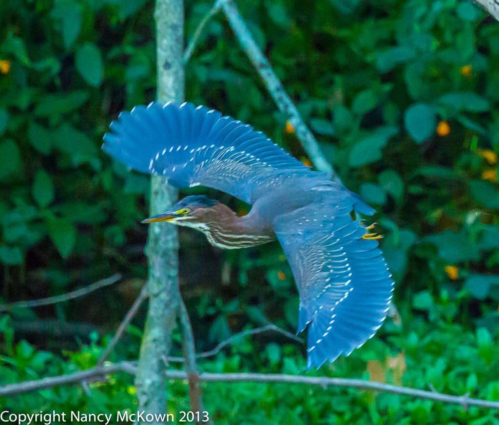
[[[274,230],[300,294],[298,330],[308,327],[308,368],[348,356],[386,317],[394,281],[375,240],[352,221],[356,199],[311,204],[277,218]]]

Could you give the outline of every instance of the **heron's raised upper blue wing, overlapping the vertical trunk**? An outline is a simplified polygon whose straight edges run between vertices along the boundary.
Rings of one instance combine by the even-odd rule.
[[[309,172],[263,133],[191,103],[138,106],[110,128],[102,149],[129,167],[165,175],[176,187],[208,186],[248,203],[263,176]]]

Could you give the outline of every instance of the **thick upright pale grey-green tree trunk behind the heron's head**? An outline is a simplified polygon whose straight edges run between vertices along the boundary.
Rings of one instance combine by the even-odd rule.
[[[184,99],[184,7],[182,0],[156,0],[157,69],[159,102]],[[165,179],[151,179],[151,215],[171,207],[177,191]],[[164,358],[171,348],[171,334],[179,307],[178,236],[175,226],[155,223],[149,227],[146,247],[149,263],[149,311],[140,348],[135,385],[139,411],[167,412]]]

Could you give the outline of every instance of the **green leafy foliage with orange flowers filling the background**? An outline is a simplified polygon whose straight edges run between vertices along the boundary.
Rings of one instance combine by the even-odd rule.
[[[388,320],[363,348],[311,374],[499,399],[499,24],[465,0],[237,3],[344,184],[378,209],[376,230],[397,283],[402,326]],[[187,36],[211,5],[186,1]],[[134,279],[147,274],[139,221],[148,179],[99,147],[121,110],[154,99],[152,16],[144,0],[0,2],[0,301],[64,293],[115,272],[132,278],[90,302],[2,316],[0,384],[94,365],[104,335],[138,293],[142,281]],[[186,67],[186,98],[306,159],[220,16]],[[298,296],[277,244],[220,252],[194,232],[181,231],[180,240],[181,289],[200,351],[267,320],[295,329]],[[13,330],[47,317],[91,323],[98,336]],[[136,358],[143,320],[142,313],[112,360]],[[268,334],[203,368],[299,373],[304,355]],[[91,397],[61,387],[0,405],[134,409],[127,376],[90,388]],[[174,411],[187,407],[186,397],[186,386],[173,383]],[[205,399],[217,424],[497,423],[486,410],[356,390],[209,384]]]

